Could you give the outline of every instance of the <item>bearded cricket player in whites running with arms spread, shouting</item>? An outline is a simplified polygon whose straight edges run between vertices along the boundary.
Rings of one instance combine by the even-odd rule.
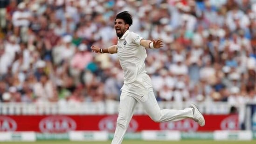
[[[194,119],[200,126],[205,119],[194,104],[184,110],[160,110],[152,89],[152,82],[145,70],[145,48],[161,48],[161,40],[145,40],[129,31],[132,17],[127,11],[116,15],[115,29],[118,36],[117,45],[109,48],[91,46],[92,52],[118,54],[124,70],[124,85],[121,88],[117,127],[111,144],[121,144],[137,103],[143,105],[146,113],[155,122],[173,122],[185,118]]]

